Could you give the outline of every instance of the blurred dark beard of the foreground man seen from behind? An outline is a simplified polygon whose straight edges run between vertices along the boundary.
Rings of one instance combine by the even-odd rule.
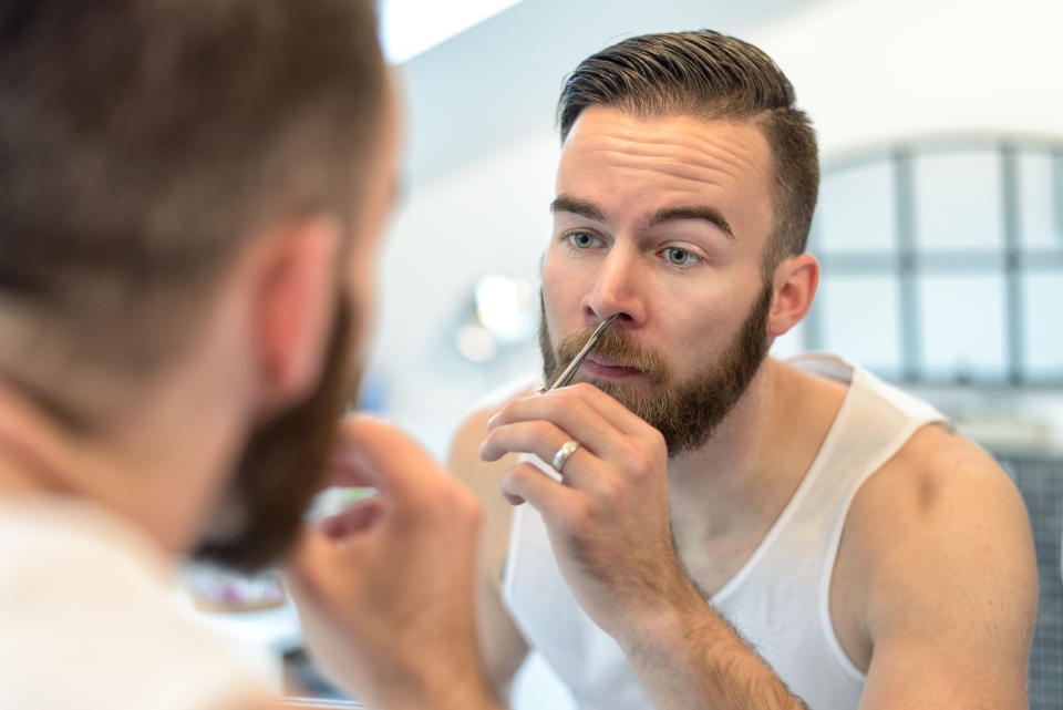
[[[340,299],[318,388],[265,424],[245,445],[215,526],[194,553],[211,564],[256,572],[279,562],[299,535],[302,517],[323,482],[349,378],[351,308]]]

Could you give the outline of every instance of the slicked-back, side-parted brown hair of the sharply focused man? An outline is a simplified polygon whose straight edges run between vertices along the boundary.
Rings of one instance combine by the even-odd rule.
[[[816,136],[795,106],[789,80],[756,47],[711,30],[623,40],[580,62],[566,80],[557,106],[563,143],[588,106],[637,117],[754,121],[771,147],[775,178],[765,267],[805,250],[819,187]]]

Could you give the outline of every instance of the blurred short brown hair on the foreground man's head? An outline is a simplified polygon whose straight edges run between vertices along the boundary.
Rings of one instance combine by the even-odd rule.
[[[249,235],[350,218],[385,92],[368,0],[3,2],[0,377],[157,369]]]

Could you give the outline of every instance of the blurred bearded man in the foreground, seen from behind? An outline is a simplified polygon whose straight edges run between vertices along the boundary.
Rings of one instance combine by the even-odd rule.
[[[0,707],[277,704],[172,604],[193,552],[293,552],[373,707],[492,707],[475,500],[337,435],[399,150],[369,3],[4,2],[0,106]],[[381,495],[303,531],[327,469]]]

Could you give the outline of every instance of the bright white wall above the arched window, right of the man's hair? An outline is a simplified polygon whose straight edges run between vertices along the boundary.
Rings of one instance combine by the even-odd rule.
[[[816,123],[825,160],[942,133],[1063,134],[1059,0],[847,0],[755,41]]]

